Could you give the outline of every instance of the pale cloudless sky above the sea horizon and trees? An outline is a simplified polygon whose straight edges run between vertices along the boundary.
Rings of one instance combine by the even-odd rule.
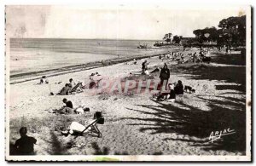
[[[7,37],[160,40],[166,33],[194,37],[241,7],[7,6]]]

